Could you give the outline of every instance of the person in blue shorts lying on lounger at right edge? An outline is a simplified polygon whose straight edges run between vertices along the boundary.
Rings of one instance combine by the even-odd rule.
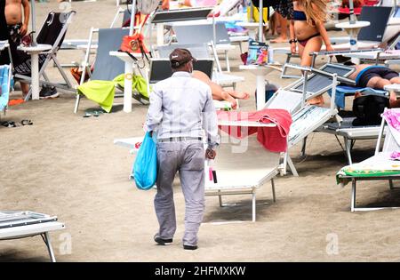
[[[348,78],[356,81],[356,87],[383,90],[385,85],[400,84],[399,74],[391,68],[372,64],[355,65],[354,68],[356,68],[356,71]],[[400,107],[400,100],[396,100],[395,92],[390,92],[389,101],[391,108]]]

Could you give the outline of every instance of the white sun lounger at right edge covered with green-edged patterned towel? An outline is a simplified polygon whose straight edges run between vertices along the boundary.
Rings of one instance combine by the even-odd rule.
[[[400,112],[399,108],[386,109],[393,110],[395,112]],[[398,208],[398,207],[357,207],[356,206],[356,182],[359,180],[388,180],[390,189],[394,188],[393,180],[400,179],[400,168],[398,167],[398,161],[393,161],[389,159],[391,152],[400,151],[400,145],[398,141],[400,138],[396,129],[388,124],[386,129],[386,136],[381,147],[381,140],[385,131],[385,123],[387,123],[386,118],[382,117],[382,123],[380,124],[380,132],[375,148],[375,155],[364,160],[358,164],[350,164],[340,170],[337,174],[337,180],[342,186],[345,186],[348,182],[352,183],[351,191],[351,212],[356,211],[371,211],[380,210],[388,208]],[[396,136],[395,136],[396,135]],[[354,174],[348,174],[346,171],[354,171]],[[386,171],[386,172],[383,172]],[[370,173],[366,175],[366,173]]]

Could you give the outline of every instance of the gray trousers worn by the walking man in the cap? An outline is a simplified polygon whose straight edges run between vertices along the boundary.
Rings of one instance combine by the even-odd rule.
[[[198,140],[157,143],[158,174],[154,204],[162,238],[172,238],[176,231],[172,183],[179,171],[186,207],[183,244],[197,244],[197,232],[204,214],[204,157],[203,143]]]

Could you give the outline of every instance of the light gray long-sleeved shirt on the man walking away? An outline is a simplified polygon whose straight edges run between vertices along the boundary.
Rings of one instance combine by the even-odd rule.
[[[220,143],[217,113],[208,84],[188,72],[175,72],[150,93],[146,125],[158,139],[207,136],[209,147]]]

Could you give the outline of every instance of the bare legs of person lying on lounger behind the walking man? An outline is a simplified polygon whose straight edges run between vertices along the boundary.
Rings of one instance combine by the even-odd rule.
[[[237,108],[236,99],[247,100],[250,97],[250,94],[247,92],[240,93],[233,90],[224,90],[220,84],[213,83],[209,76],[201,71],[193,71],[192,76],[211,87],[213,100],[227,100],[234,109]]]

